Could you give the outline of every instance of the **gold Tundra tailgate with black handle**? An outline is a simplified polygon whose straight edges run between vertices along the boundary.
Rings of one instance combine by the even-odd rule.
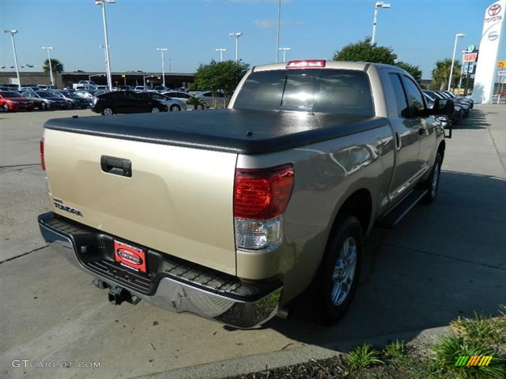
[[[44,143],[55,213],[235,275],[236,154],[52,129]],[[130,161],[131,176],[104,157]]]

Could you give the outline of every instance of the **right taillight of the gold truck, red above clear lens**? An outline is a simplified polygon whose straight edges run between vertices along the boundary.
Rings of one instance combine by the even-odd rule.
[[[236,169],[234,225],[238,249],[273,249],[281,244],[283,213],[294,180],[291,164]]]

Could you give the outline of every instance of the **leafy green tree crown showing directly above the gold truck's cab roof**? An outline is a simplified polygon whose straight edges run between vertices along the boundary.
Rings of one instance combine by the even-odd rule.
[[[370,37],[357,43],[346,45],[341,51],[336,51],[334,61],[372,62],[395,64],[397,55],[390,48],[371,44]]]

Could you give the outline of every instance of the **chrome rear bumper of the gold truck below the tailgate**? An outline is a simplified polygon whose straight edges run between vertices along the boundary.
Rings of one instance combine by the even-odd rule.
[[[55,219],[58,221],[54,222]],[[124,277],[131,277],[133,273],[114,266],[115,262],[108,263],[111,267],[116,267],[113,270],[99,272],[94,269],[95,265],[92,265],[94,262],[87,263],[80,259],[80,255],[86,254],[86,247],[76,241],[84,239],[90,243],[94,240],[95,234],[100,234],[101,238],[104,238],[104,233],[68,221],[52,212],[39,215],[38,223],[40,232],[48,245],[63,255],[72,265],[99,278],[109,286],[124,288],[132,295],[157,307],[175,312],[195,313],[237,328],[258,326],[278,312],[283,290],[280,281],[259,283],[259,286],[242,283],[235,285],[234,290],[237,286],[245,287],[242,290],[246,295],[241,296],[234,291],[217,291],[210,287],[206,288],[205,284],[192,283],[174,275],[165,275],[159,278],[157,285],[154,280],[152,281],[153,293],[147,294],[146,291],[125,282]],[[149,279],[145,281],[149,282]]]

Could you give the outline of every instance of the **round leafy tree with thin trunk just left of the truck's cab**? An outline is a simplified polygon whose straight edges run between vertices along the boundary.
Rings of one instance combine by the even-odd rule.
[[[243,62],[212,60],[209,64],[201,64],[195,73],[195,83],[199,88],[212,90],[213,92],[231,92],[235,89],[241,78],[248,70],[249,65]],[[214,95],[216,107],[216,96]]]

